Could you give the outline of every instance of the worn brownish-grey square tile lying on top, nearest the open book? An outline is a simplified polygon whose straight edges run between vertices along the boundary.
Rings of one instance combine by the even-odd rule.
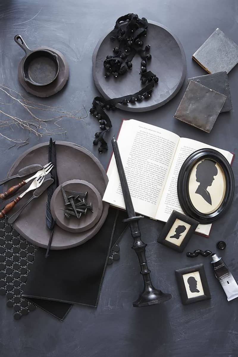
[[[174,117],[209,133],[226,98],[223,94],[191,80]]]

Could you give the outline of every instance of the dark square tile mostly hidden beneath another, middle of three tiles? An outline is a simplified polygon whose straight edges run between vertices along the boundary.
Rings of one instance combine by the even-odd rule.
[[[232,110],[231,92],[226,71],[189,78],[188,83],[191,80],[198,82],[199,84],[202,84],[203,86],[206,86],[210,89],[213,89],[218,93],[224,94],[227,99],[222,107],[221,112]]]

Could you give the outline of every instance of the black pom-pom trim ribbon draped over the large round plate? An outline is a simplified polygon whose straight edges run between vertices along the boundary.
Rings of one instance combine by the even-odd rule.
[[[126,27],[122,29],[121,22],[127,21]],[[141,83],[145,84],[144,91],[142,90],[136,92],[135,94],[126,95],[115,99],[104,99],[103,97],[95,97],[93,100],[93,106],[90,109],[90,114],[96,116],[101,132],[95,134],[93,140],[93,145],[100,143],[98,151],[107,151],[107,142],[104,139],[104,134],[111,129],[112,123],[104,109],[115,110],[116,104],[128,105],[128,103],[135,103],[137,100],[141,101],[143,99],[143,94],[145,99],[148,99],[152,93],[152,88],[154,83],[157,83],[157,76],[151,71],[147,72],[147,60],[151,59],[150,54],[146,54],[150,50],[150,45],[146,45],[143,49],[142,36],[146,36],[148,27],[148,21],[145,17],[141,19],[137,14],[127,14],[125,16],[119,17],[116,21],[116,25],[111,33],[110,39],[112,41],[117,40],[118,46],[113,48],[113,55],[107,55],[103,61],[103,66],[105,67],[105,78],[113,75],[115,79],[119,76],[127,73],[128,70],[132,69],[132,59],[136,53],[141,56]],[[155,79],[155,80],[154,80]],[[148,83],[147,83],[148,81]],[[116,83],[116,82],[115,82]]]

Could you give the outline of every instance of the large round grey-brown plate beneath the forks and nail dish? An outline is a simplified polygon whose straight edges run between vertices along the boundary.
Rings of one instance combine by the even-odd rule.
[[[11,167],[8,175],[14,175],[19,169],[27,165],[35,163],[41,165],[46,164],[48,161],[48,145],[48,142],[39,144],[25,151]],[[56,141],[56,152],[59,183],[76,178],[85,180],[95,186],[101,197],[103,196],[108,178],[103,166],[90,151],[76,144],[72,144],[71,142]],[[4,189],[15,185],[17,182],[19,182],[17,179],[8,182],[7,185],[4,186]],[[25,187],[23,190],[25,190]],[[14,213],[20,205],[26,202],[30,196],[31,193],[27,193],[27,195],[14,207],[12,213]],[[50,236],[50,231],[46,226],[46,201],[47,191],[31,202],[13,224],[14,228],[24,238],[35,245],[44,248],[47,247]],[[95,236],[106,220],[108,208],[109,204],[103,202],[103,211],[100,220],[88,231],[71,233],[56,226],[51,249],[75,247]]]

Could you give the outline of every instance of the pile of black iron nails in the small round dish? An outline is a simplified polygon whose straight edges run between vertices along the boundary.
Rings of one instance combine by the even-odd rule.
[[[87,203],[87,191],[83,192],[75,192],[64,190],[64,188],[60,185],[62,195],[65,201],[65,208],[60,208],[64,210],[64,215],[66,218],[70,219],[71,216],[77,217],[78,219],[82,215],[86,215],[87,211],[92,210],[92,202],[90,204]]]

